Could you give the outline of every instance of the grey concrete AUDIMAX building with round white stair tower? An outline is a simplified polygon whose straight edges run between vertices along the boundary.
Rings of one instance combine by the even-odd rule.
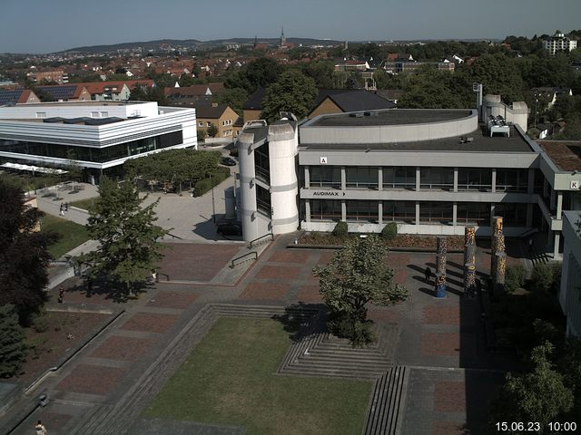
[[[581,208],[581,161],[578,172],[559,166],[559,156],[568,161],[565,149],[539,146],[526,126],[526,104],[508,106],[497,96],[484,99],[480,114],[327,114],[300,125],[292,160],[292,121],[251,123],[239,140],[244,238],[292,231],[297,223],[330,231],[340,220],[351,232],[379,232],[396,222],[400,233],[463,235],[470,225],[487,236],[491,218],[500,215],[507,236],[546,233],[559,258],[563,209]],[[282,207],[274,199],[281,192]]]

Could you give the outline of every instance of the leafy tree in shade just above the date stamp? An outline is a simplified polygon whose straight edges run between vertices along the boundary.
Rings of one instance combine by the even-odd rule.
[[[495,421],[537,421],[539,433],[547,433],[547,424],[573,407],[573,392],[566,387],[562,374],[553,370],[549,355],[553,345],[546,342],[533,349],[532,370],[507,374],[497,401],[493,403]],[[519,432],[513,432],[519,433]]]

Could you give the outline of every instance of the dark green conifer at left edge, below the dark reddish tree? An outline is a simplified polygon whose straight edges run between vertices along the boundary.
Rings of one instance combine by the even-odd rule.
[[[14,305],[0,306],[0,378],[14,376],[25,362],[25,334]]]

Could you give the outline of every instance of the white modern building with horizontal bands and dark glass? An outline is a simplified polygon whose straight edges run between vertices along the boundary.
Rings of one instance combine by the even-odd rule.
[[[44,102],[0,107],[0,160],[51,167],[70,160],[89,179],[134,157],[197,147],[194,109],[156,102]]]

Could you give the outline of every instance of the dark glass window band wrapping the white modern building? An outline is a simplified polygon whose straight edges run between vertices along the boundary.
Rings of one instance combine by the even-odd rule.
[[[132,140],[103,148],[0,139],[0,151],[40,157],[52,157],[56,159],[69,159],[71,155],[74,155],[76,160],[104,163],[111,160],[135,156],[147,151],[162,150],[182,143],[182,131],[175,131],[159,136],[153,136],[151,138]]]

